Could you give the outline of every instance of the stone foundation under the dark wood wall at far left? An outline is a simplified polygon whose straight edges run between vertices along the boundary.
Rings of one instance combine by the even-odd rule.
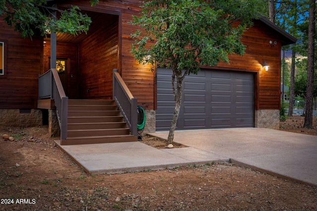
[[[0,109],[0,126],[5,127],[39,127],[43,125],[42,111],[30,109],[21,113],[20,109]]]

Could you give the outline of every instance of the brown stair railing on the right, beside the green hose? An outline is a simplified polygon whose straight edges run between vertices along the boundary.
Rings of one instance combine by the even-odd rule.
[[[113,69],[113,99],[117,103],[128,127],[130,127],[131,134],[136,136],[138,134],[138,100],[131,94],[127,85],[118,73],[118,69]]]

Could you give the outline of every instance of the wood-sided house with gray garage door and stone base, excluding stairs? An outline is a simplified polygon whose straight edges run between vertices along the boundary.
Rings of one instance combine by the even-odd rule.
[[[145,132],[168,129],[174,107],[170,72],[160,68],[152,72],[130,53],[130,35],[136,27],[128,22],[139,14],[140,1],[100,0],[94,7],[88,0],[56,2],[63,9],[78,5],[93,21],[87,35],[57,34],[56,57],[63,67],[59,78],[68,99],[112,99],[112,72],[118,69],[146,111]],[[202,66],[198,76],[186,77],[178,129],[279,127],[280,51],[296,39],[261,18],[242,40],[244,56],[231,55],[230,64]],[[50,42],[50,37],[23,39],[0,19],[1,125],[49,124],[53,134],[54,103],[41,94],[39,98],[38,92],[39,75],[50,69]]]

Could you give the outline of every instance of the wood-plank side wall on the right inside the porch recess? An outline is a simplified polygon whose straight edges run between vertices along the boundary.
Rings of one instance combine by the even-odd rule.
[[[79,96],[112,99],[112,70],[118,66],[118,18],[79,44]]]

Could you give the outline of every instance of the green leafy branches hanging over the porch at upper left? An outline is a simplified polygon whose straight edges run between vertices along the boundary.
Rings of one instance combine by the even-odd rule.
[[[92,6],[98,2],[90,0]],[[56,11],[59,18],[53,15]],[[35,34],[43,36],[51,31],[77,35],[87,32],[91,23],[78,6],[60,10],[47,0],[0,0],[0,16],[4,16],[4,21],[24,38],[32,38]]]

